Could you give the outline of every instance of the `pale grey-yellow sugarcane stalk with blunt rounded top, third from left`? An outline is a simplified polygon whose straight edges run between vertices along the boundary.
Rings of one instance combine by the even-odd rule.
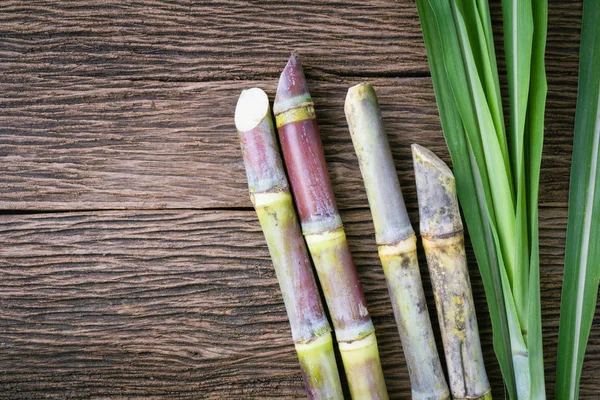
[[[408,365],[412,398],[449,399],[421,283],[417,240],[373,86],[361,83],[351,87],[344,110],[365,182],[379,257]]]

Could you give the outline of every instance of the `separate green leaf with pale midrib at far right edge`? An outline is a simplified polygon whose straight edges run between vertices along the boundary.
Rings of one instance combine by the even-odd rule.
[[[585,0],[579,61],[579,92],[565,275],[563,281],[556,397],[577,399],[585,348],[600,277],[600,2]]]

